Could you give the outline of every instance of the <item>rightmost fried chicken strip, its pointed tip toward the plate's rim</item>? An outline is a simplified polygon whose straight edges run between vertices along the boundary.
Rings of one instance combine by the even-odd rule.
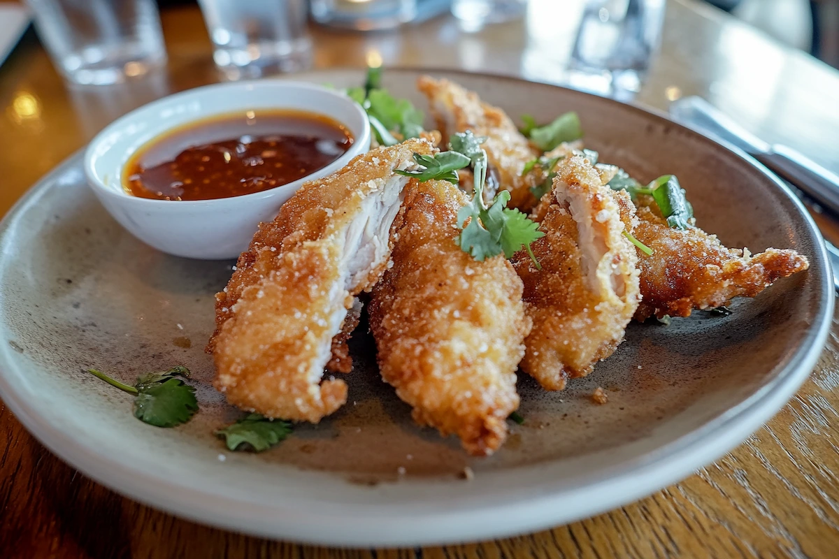
[[[782,277],[810,264],[796,251],[769,248],[752,256],[726,248],[698,227],[674,229],[649,196],[640,196],[632,234],[653,250],[638,255],[641,304],[635,319],[690,316],[695,308],[716,308],[735,297],[754,297]]]

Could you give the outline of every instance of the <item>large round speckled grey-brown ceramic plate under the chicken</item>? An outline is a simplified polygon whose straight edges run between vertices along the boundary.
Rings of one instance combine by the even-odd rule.
[[[787,190],[741,154],[632,106],[436,74],[514,116],[578,111],[603,160],[642,178],[678,174],[700,225],[727,245],[794,248],[810,270],[735,303],[726,318],[633,323],[615,355],[566,391],[522,378],[526,422],[511,425],[492,458],[469,458],[455,440],[414,426],[379,379],[366,334],[353,340],[347,406],[267,453],[230,453],[212,432],[237,411],[212,389],[203,347],[232,261],[143,246],[96,202],[76,156],[3,220],[3,400],[61,458],[133,499],[237,531],[348,546],[477,540],[594,515],[710,463],[784,405],[816,363],[833,307],[821,237]],[[391,70],[386,85],[425,106],[417,75]],[[357,71],[305,77],[362,80]],[[174,364],[193,371],[201,412],[173,429],[138,422],[127,395],[83,372],[132,381]],[[591,401],[597,386],[609,392],[605,406]],[[474,479],[461,479],[466,467]]]

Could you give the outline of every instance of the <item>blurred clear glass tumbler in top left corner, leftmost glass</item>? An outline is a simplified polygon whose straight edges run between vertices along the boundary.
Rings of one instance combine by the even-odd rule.
[[[56,68],[77,84],[116,84],[166,64],[154,0],[27,0]]]

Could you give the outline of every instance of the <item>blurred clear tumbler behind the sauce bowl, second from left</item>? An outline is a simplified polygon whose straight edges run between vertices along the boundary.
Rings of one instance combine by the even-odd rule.
[[[311,64],[306,0],[198,0],[213,60],[228,80],[305,70]]]

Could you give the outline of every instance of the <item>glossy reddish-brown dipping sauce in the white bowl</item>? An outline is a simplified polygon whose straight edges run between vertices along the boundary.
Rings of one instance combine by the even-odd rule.
[[[340,158],[352,135],[305,111],[246,111],[191,122],[140,148],[123,188],[140,198],[232,198],[302,179]]]

